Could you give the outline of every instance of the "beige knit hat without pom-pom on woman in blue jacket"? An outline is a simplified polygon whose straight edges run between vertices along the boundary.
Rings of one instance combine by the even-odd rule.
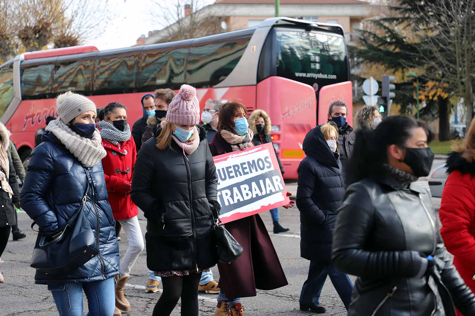
[[[72,121],[76,116],[86,111],[95,111],[95,104],[84,95],[66,93],[58,95],[56,98],[58,117],[65,123]]]

